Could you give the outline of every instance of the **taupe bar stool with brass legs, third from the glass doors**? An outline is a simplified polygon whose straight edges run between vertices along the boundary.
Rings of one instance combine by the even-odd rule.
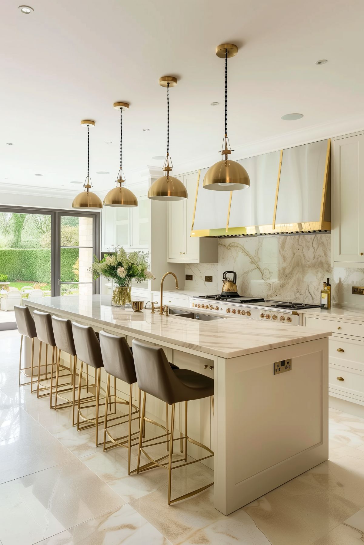
[[[71,320],[68,320],[67,318],[58,318],[58,316],[52,316],[52,327],[53,327],[53,335],[55,336],[56,341],[56,347],[58,348],[58,358],[57,358],[57,374],[56,374],[56,387],[55,387],[55,409],[66,409],[69,407],[72,407],[72,425],[75,426],[75,390],[76,390],[76,372],[77,372],[77,355],[76,355],[76,348],[75,343],[73,340],[73,333],[72,333],[72,322]],[[71,387],[67,387],[69,384],[61,384],[61,390],[58,391],[58,379],[59,379],[59,368],[61,367],[60,360],[61,360],[61,350],[62,352],[65,352],[69,354],[69,368],[71,372]],[[66,386],[66,387],[64,387]],[[72,391],[72,399],[69,401],[67,398],[62,397],[63,392],[69,392]],[[52,393],[51,393],[52,395]],[[65,399],[65,403],[62,403],[61,405],[58,405],[57,407],[57,398],[61,397],[62,399]]]

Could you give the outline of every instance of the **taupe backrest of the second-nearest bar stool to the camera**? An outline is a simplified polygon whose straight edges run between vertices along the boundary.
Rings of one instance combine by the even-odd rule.
[[[127,384],[136,382],[134,358],[125,337],[100,331],[100,348],[106,373]]]

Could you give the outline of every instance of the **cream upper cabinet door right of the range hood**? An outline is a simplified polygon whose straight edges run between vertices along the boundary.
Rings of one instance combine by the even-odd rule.
[[[364,135],[334,147],[334,262],[364,263]]]

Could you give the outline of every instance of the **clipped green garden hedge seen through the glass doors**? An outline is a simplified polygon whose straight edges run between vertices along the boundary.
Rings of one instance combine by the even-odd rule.
[[[77,248],[61,248],[61,280],[77,281],[72,270],[79,257]],[[51,251],[43,248],[0,249],[0,273],[7,274],[9,281],[33,280],[36,282],[51,281]]]

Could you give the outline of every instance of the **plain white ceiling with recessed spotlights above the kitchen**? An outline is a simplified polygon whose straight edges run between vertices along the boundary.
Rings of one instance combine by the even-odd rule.
[[[133,169],[162,166],[152,156],[165,154],[166,90],[158,78],[169,74],[178,77],[170,90],[175,167],[197,158],[205,158],[201,167],[207,158],[218,161],[224,61],[214,50],[226,41],[240,46],[228,62],[233,149],[363,115],[362,0],[29,2],[31,15],[15,0],[1,7],[0,184],[81,190],[71,186],[86,175],[80,120],[94,119],[91,177],[96,190],[111,187],[118,171],[117,100],[130,102],[123,116],[127,178]],[[329,62],[315,65],[321,58]],[[304,117],[281,120],[291,112]]]

